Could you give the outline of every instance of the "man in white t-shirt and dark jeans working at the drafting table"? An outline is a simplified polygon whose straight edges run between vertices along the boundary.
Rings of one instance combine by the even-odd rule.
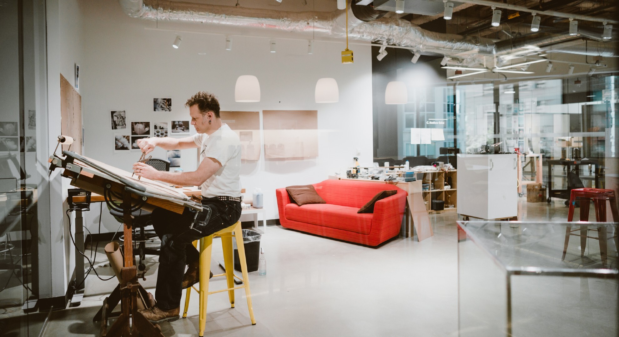
[[[155,147],[164,150],[200,148],[196,171],[173,173],[157,171],[144,163],[133,164],[134,173],[148,179],[182,186],[202,186],[202,205],[210,217],[206,225],[190,228],[194,214],[185,209],[183,215],[157,208],[152,221],[161,239],[161,255],[155,299],[157,304],[142,310],[151,322],[173,321],[179,318],[181,292],[197,283],[199,253],[191,242],[232,226],[241,216],[241,143],[219,117],[219,101],[214,95],[199,92],[187,100],[191,125],[196,135],[181,139],[163,137],[137,141],[143,152]],[[185,265],[189,265],[186,273]],[[184,275],[183,275],[184,273]],[[211,274],[212,275],[212,274]]]

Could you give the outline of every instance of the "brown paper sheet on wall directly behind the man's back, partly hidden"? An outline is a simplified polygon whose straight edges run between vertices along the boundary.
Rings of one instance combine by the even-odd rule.
[[[219,111],[222,123],[228,124],[241,140],[241,160],[260,160],[260,113],[258,111]]]

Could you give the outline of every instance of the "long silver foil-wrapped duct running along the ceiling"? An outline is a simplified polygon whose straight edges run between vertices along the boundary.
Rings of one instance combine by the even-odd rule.
[[[123,11],[131,17],[145,20],[168,22],[207,23],[232,27],[265,28],[284,32],[309,33],[327,38],[344,38],[346,35],[346,15],[337,12],[284,12],[268,9],[248,9],[244,7],[216,6],[191,2],[165,0],[119,0]],[[352,6],[360,6],[352,4]],[[543,46],[563,40],[563,36],[542,36],[537,39],[522,39],[495,45],[488,38],[436,33],[414,25],[407,20],[385,18],[383,11],[366,7],[361,19],[355,12],[348,15],[348,37],[367,42],[386,42],[390,45],[407,46],[422,53],[435,53],[454,59],[459,64],[483,63],[485,56],[513,53],[514,49]],[[349,9],[350,11],[350,9]],[[378,17],[379,19],[365,22]],[[381,18],[382,17],[382,18]],[[566,39],[574,36],[565,35]],[[604,43],[597,49],[587,49],[589,55],[616,56],[615,43]],[[561,53],[583,54],[581,48],[565,47]]]

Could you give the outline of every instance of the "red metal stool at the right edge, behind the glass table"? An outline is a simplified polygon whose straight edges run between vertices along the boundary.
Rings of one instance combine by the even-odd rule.
[[[589,221],[589,200],[593,200],[595,207],[595,221],[606,221],[606,201],[610,201],[610,211],[613,215],[613,221],[619,221],[619,212],[617,211],[617,203],[615,202],[615,191],[605,189],[573,189],[569,196],[569,212],[568,221],[572,221],[574,218],[574,207],[576,201],[580,203],[580,221]],[[588,231],[597,231],[597,237],[587,236]],[[578,229],[574,229],[578,231]],[[596,239],[600,241],[600,255],[602,255],[602,265],[606,265],[607,260],[607,240],[615,239],[615,246],[619,248],[619,238],[615,232],[615,236],[607,237],[606,228],[598,227],[597,229],[589,229],[588,226],[580,226],[580,234],[573,234],[571,226],[568,226],[565,231],[565,245],[563,246],[563,257],[561,260],[565,260],[565,254],[568,250],[569,236],[581,237],[581,257],[584,256],[584,249],[587,244],[587,237],[590,239]]]

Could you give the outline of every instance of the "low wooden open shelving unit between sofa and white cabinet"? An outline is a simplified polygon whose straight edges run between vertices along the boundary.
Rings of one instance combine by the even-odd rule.
[[[455,211],[457,208],[457,170],[452,171],[422,171],[415,172],[417,180],[422,184],[430,184],[430,190],[423,191],[423,202],[426,210],[430,213],[440,213],[442,211],[431,210],[433,200],[443,200],[445,208],[443,211]],[[445,182],[449,184],[449,189],[445,189]],[[440,187],[440,188],[436,188]],[[448,205],[454,205],[449,208]]]

